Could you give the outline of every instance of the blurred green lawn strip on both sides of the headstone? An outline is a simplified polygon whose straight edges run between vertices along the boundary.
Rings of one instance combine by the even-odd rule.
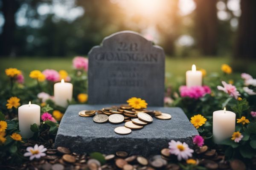
[[[32,70],[43,71],[46,68],[55,69],[57,71],[63,69],[68,73],[73,71],[73,57],[17,57],[17,58],[0,58],[0,79],[5,77],[4,70],[6,68],[18,68],[23,71],[25,82],[30,83],[29,72]],[[229,57],[189,57],[189,58],[171,58],[166,57],[166,85],[177,85],[185,80],[185,73],[191,69],[192,64],[197,68],[204,68],[207,73],[221,72],[220,67],[223,63],[230,64],[232,62]],[[249,74],[256,76],[256,62],[243,63],[247,67]],[[236,72],[236,70],[234,70]],[[238,74],[238,73],[237,73]]]

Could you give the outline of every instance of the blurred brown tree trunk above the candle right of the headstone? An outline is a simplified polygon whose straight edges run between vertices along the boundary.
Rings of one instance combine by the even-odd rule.
[[[195,0],[195,23],[198,47],[203,55],[217,54],[218,20],[217,0]]]

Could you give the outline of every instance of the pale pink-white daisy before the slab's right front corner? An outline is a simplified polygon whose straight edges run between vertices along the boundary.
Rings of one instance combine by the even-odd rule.
[[[194,152],[194,150],[190,149],[188,144],[186,144],[185,142],[175,142],[174,140],[171,140],[171,142],[169,142],[169,149],[170,153],[176,155],[179,161],[181,161],[181,159],[186,160],[189,157],[192,157],[192,153]]]

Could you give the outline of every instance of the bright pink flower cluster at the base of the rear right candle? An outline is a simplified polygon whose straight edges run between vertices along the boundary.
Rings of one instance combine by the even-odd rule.
[[[203,97],[205,94],[210,94],[211,89],[208,86],[193,86],[187,87],[185,85],[180,86],[180,96],[181,97],[189,97],[192,99],[198,99]]]

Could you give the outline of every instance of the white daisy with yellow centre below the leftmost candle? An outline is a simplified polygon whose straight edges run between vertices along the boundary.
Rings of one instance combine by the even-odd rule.
[[[24,153],[24,156],[30,156],[29,160],[32,160],[34,158],[39,159],[41,156],[46,156],[44,153],[47,149],[44,148],[44,145],[40,145],[38,147],[38,144],[35,144],[34,148],[33,147],[27,147],[26,150],[28,152]]]

